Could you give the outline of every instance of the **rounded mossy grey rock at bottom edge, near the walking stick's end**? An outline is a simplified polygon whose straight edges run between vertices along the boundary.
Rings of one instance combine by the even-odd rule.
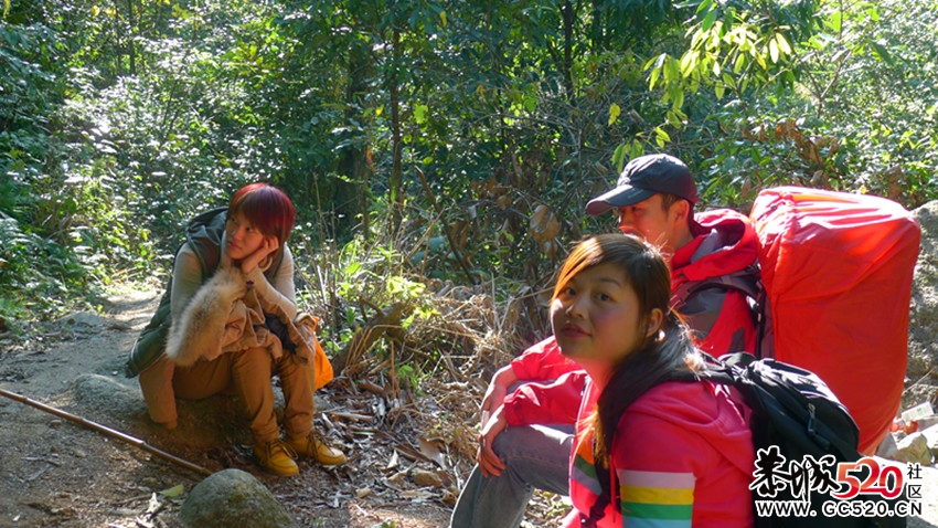
[[[298,526],[263,484],[241,469],[221,471],[199,483],[179,514],[191,528]]]

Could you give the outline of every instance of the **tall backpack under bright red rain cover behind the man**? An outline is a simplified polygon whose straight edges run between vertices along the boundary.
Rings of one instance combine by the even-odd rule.
[[[921,230],[891,200],[781,187],[756,198],[775,358],[817,373],[873,454],[902,399]]]

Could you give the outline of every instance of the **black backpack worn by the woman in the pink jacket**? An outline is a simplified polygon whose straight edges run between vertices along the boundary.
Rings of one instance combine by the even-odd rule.
[[[825,501],[839,501],[832,493],[843,493],[836,483],[841,462],[856,462],[863,455],[856,450],[860,430],[846,408],[814,373],[776,361],[756,359],[746,352],[715,359],[703,355],[706,367],[697,372],[674,372],[661,380],[699,382],[707,380],[736,389],[732,398],[742,400],[752,410],[750,429],[756,464],[753,467],[753,511],[757,528],[833,527],[893,528],[906,526],[905,517],[836,517],[825,515]],[[589,515],[582,516],[583,527],[596,526],[609,504],[609,469],[596,465],[603,493]],[[870,469],[861,466],[852,474],[861,483]],[[863,473],[865,471],[865,473]],[[888,483],[887,483],[888,484]],[[892,482],[892,489],[899,483]],[[618,492],[618,483],[614,488]],[[893,500],[904,497],[899,496]],[[857,495],[850,499],[866,501],[851,505],[860,511],[875,513],[877,504],[886,501],[878,495]],[[780,514],[769,503],[809,506],[808,511]],[[883,508],[885,505],[878,505]],[[889,510],[893,504],[889,504]],[[882,511],[880,509],[878,511]],[[774,511],[774,514],[770,514]],[[814,511],[817,515],[810,515]]]

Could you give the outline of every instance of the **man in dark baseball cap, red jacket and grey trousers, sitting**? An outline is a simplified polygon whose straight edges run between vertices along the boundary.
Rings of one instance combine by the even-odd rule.
[[[753,352],[757,336],[748,297],[724,283],[736,282],[727,276],[755,277],[755,230],[746,217],[727,209],[695,218],[697,199],[687,166],[653,154],[629,161],[616,188],[590,200],[586,212],[615,211],[620,231],[643,236],[670,255],[671,306],[703,350]],[[558,424],[558,418],[575,420],[578,394],[564,386],[577,368],[552,336],[495,372],[482,400],[479,465],[463,486],[450,527],[515,528],[535,488],[568,495],[573,425]],[[551,380],[556,382],[542,384]],[[513,390],[519,383],[524,384]]]

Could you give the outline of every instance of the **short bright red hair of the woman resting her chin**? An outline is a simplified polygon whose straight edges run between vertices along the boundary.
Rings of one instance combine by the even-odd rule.
[[[274,235],[280,247],[294,230],[297,210],[284,191],[267,183],[251,183],[242,187],[228,203],[228,218],[243,214],[260,232]]]

